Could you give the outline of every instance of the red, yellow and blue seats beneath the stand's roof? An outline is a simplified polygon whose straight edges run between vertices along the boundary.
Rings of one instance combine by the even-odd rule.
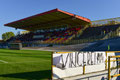
[[[81,28],[65,28],[56,30],[34,31],[27,34],[17,35],[8,41],[35,42],[41,43],[63,43],[72,38]]]

